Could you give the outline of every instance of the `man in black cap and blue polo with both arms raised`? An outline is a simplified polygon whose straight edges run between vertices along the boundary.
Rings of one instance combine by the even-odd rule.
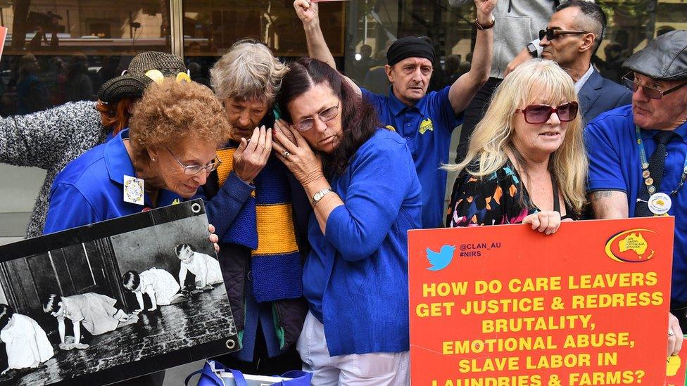
[[[448,146],[455,127],[462,124],[462,112],[477,90],[489,78],[493,51],[496,0],[474,0],[477,7],[477,41],[472,67],[450,86],[427,94],[427,86],[436,58],[427,37],[403,37],[386,52],[386,76],[391,82],[389,96],[360,89],[379,114],[382,126],[394,130],[408,141],[422,185],[422,227],[443,226],[446,195]],[[308,54],[336,68],[334,57],[324,41],[318,18],[317,2],[296,0],[294,8],[303,22]],[[351,85],[359,89],[352,81]]]

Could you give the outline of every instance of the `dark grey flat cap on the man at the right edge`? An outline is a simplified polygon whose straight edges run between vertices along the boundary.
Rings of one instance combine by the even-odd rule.
[[[623,63],[623,67],[657,80],[687,79],[687,31],[656,37]]]

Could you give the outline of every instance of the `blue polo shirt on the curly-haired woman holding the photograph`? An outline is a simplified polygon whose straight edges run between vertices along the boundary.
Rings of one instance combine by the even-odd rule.
[[[44,234],[94,222],[115,219],[153,208],[146,193],[145,205],[124,201],[124,176],[136,176],[124,147],[129,130],[87,151],[70,162],[55,178]],[[171,205],[179,195],[160,189],[158,206]]]

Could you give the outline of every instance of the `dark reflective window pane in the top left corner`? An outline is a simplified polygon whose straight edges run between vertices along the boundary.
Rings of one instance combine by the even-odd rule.
[[[142,51],[171,52],[169,1],[4,1],[0,115],[97,98]]]

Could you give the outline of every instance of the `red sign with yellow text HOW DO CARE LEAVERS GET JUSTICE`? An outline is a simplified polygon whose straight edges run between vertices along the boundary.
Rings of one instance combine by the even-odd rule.
[[[674,218],[410,231],[413,386],[662,385]]]

